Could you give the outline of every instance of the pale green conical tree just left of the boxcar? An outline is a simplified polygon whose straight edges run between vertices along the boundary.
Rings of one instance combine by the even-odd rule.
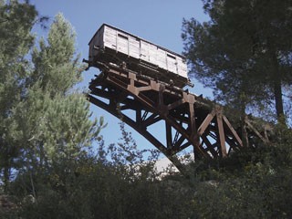
[[[90,120],[89,102],[73,89],[84,68],[75,54],[75,33],[62,15],[55,17],[47,42],[41,39],[39,49],[34,48],[32,61],[26,97],[14,112],[23,150],[19,175],[29,178],[26,193],[37,200],[44,173],[66,184],[104,124]]]

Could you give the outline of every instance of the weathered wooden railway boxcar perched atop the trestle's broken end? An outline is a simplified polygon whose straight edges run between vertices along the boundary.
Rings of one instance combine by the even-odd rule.
[[[89,65],[98,62],[123,66],[179,88],[189,82],[182,55],[106,24],[89,41]]]

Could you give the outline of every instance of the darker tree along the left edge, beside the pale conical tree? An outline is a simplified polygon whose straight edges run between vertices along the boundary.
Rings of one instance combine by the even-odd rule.
[[[34,5],[0,1],[0,173],[5,184],[21,154],[14,109],[24,99],[29,67],[25,56],[34,43],[30,31],[36,16]]]

